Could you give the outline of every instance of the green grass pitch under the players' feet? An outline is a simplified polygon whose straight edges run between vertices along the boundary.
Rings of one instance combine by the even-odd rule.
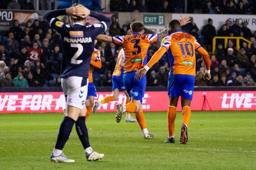
[[[132,115],[134,116],[134,115]],[[187,145],[179,144],[177,113],[175,144],[168,136],[166,112],[145,112],[155,139],[143,138],[137,123],[115,122],[115,113],[92,114],[87,121],[92,148],[105,157],[87,162],[73,129],[64,153],[72,164],[52,163],[63,115],[0,114],[0,169],[255,169],[255,111],[193,111]]]

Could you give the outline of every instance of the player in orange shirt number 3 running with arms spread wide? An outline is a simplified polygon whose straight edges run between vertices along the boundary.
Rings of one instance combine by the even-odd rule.
[[[182,25],[188,24],[190,18],[185,16],[180,17]],[[145,123],[145,117],[141,109],[141,103],[145,94],[147,79],[146,76],[140,80],[134,78],[136,71],[143,68],[147,64],[147,52],[151,43],[159,41],[159,39],[168,35],[167,29],[157,34],[144,34],[144,25],[141,22],[135,21],[131,23],[131,35],[109,37],[100,34],[97,36],[98,41],[104,41],[109,43],[115,43],[115,45],[121,45],[124,48],[125,64],[124,64],[124,83],[129,96],[131,97],[131,103],[116,105],[116,122],[120,122],[122,115],[125,111],[136,113],[136,119],[141,127],[143,136],[145,139],[154,138],[153,134],[148,132]]]

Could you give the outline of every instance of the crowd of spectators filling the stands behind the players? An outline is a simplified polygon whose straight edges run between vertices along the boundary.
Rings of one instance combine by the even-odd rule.
[[[29,0],[26,0],[28,2]],[[16,2],[16,0],[13,0]],[[162,8],[150,9],[152,4],[159,1],[135,1],[131,0],[129,5],[121,6],[123,1],[110,1],[115,3],[111,5],[111,11],[150,11],[161,10],[164,12],[183,12],[173,9],[169,1],[163,1]],[[124,0],[124,4],[127,2]],[[162,1],[161,1],[162,2]],[[179,8],[180,1],[173,1],[172,5]],[[189,1],[191,3],[192,1]],[[196,0],[193,1],[197,2]],[[203,1],[202,1],[203,2]],[[218,3],[219,2],[219,3]],[[202,13],[212,13],[218,7],[220,13],[223,13],[223,1],[205,1],[209,8],[202,8]],[[122,3],[122,4],[123,4]],[[175,4],[177,3],[177,4]],[[236,4],[236,8],[241,8],[241,4],[248,4],[244,7],[244,14],[253,13],[252,1],[227,1],[226,5]],[[251,3],[251,4],[250,4]],[[140,5],[138,5],[140,4]],[[175,4],[175,5],[174,5]],[[209,5],[210,4],[210,5]],[[205,6],[202,5],[202,6]],[[137,7],[136,7],[137,6]],[[138,8],[140,6],[140,9]],[[170,10],[166,9],[166,6]],[[143,7],[143,8],[142,8]],[[210,8],[211,7],[211,8]],[[225,7],[226,8],[226,7]],[[250,8],[250,9],[249,9]],[[196,8],[193,8],[196,10]],[[208,9],[208,10],[207,10]],[[255,8],[254,8],[255,9]],[[225,10],[226,11],[226,10]],[[232,10],[230,10],[232,11]],[[237,10],[236,10],[237,12]],[[234,12],[234,13],[236,13]],[[216,13],[216,12],[215,12]],[[125,35],[129,31],[129,24],[122,25],[118,23],[116,15],[112,17],[112,24],[105,34],[109,36]],[[183,31],[192,34],[198,39],[200,44],[207,49],[211,57],[212,80],[209,82],[203,78],[204,66],[200,55],[196,55],[196,86],[255,86],[256,85],[256,32],[252,32],[247,27],[247,23],[239,24],[236,20],[232,24],[229,20],[221,25],[220,30],[216,30],[212,25],[212,19],[204,25],[202,31],[199,31],[196,23],[191,18],[191,23],[182,27]],[[212,53],[212,38],[214,36],[240,36],[252,42],[251,48],[245,41],[236,42],[233,39],[228,40],[228,46],[224,48],[224,42],[220,39],[217,42],[216,50]],[[239,43],[240,48],[236,48]],[[148,60],[154,52],[158,50],[160,43],[152,43],[148,49]],[[112,86],[111,76],[115,69],[116,59],[120,46],[113,43],[97,43],[95,46],[101,53],[102,67],[95,68],[93,71],[93,82],[95,86]],[[61,78],[60,67],[62,60],[61,38],[58,32],[49,27],[46,20],[30,20],[24,28],[20,27],[17,20],[13,21],[12,27],[6,31],[0,42],[0,87],[51,87],[60,86]],[[168,72],[168,54],[166,53],[157,62],[147,74],[147,86],[167,87]]]

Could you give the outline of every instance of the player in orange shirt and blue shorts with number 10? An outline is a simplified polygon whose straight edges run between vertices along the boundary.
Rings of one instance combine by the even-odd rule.
[[[174,125],[176,118],[176,107],[179,96],[181,96],[182,106],[182,126],[180,134],[180,144],[186,144],[188,141],[188,124],[191,116],[190,104],[193,96],[196,73],[195,52],[202,55],[205,63],[204,78],[211,79],[210,59],[207,51],[188,33],[181,31],[180,22],[172,20],[168,24],[169,36],[166,36],[161,42],[161,47],[154,53],[147,65],[137,71],[136,78],[140,80],[145,77],[148,69],[152,67],[168,52],[170,60],[170,74],[168,78],[168,96],[170,105],[168,107],[168,132],[169,136],[164,143],[175,143]]]

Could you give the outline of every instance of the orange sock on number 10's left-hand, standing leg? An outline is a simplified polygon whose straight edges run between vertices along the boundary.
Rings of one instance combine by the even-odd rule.
[[[176,118],[176,107],[169,106],[168,111],[167,111],[167,122],[168,122],[169,136],[174,136],[175,118]]]

